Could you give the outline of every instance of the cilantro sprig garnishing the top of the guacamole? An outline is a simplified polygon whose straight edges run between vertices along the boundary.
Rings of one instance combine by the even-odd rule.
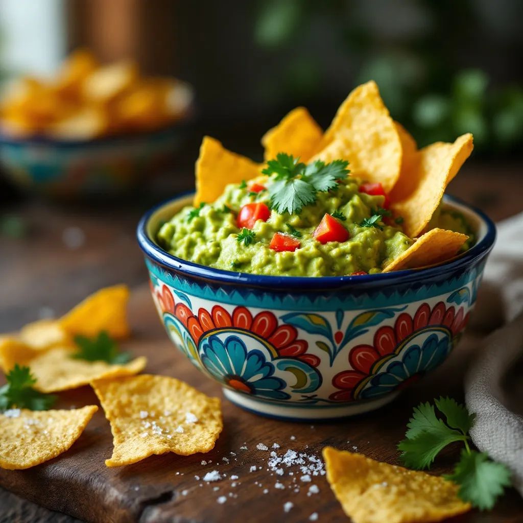
[[[271,207],[280,214],[299,214],[304,206],[316,201],[318,192],[336,188],[347,177],[347,165],[345,160],[328,164],[317,160],[306,165],[299,158],[278,153],[261,171],[275,177],[275,183],[269,186]]]

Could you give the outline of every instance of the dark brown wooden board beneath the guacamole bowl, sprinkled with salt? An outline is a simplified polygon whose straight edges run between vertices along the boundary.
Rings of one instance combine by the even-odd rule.
[[[272,449],[258,450],[256,445],[263,443],[270,448],[277,443],[280,456],[293,449],[317,457],[325,445],[347,450],[356,447],[371,458],[397,463],[396,444],[405,433],[412,407],[440,394],[461,399],[462,370],[477,345],[472,336],[465,337],[438,371],[379,411],[335,424],[311,426],[258,417],[223,399],[220,387],[204,377],[169,342],[145,286],[132,294],[130,321],[135,335],[123,348],[149,358],[146,372],[183,379],[207,394],[222,398],[224,431],[215,448],[207,454],[189,457],[165,454],[109,469],[104,461],[111,456],[112,437],[109,423],[100,410],[81,438],[62,456],[26,471],[0,469],[1,486],[39,505],[96,523],[293,523],[309,521],[313,513],[319,515],[318,521],[348,521],[324,475],[312,476],[312,481],[305,483],[300,480],[302,473],[298,467],[284,467],[285,474],[279,476],[267,470]],[[88,404],[98,402],[93,391],[85,387],[62,394],[58,406]],[[451,449],[437,459],[434,471],[448,471],[456,456],[457,449]],[[202,460],[212,463],[202,465]],[[256,470],[251,472],[254,466]],[[213,483],[195,479],[212,470],[226,476]],[[231,479],[232,475],[238,479]],[[285,488],[276,488],[277,482]],[[312,484],[319,488],[319,493],[308,495]],[[268,492],[264,493],[265,490]],[[226,496],[225,503],[217,502],[220,496]],[[286,513],[283,505],[287,502],[292,502],[293,507]],[[522,520],[523,502],[514,491],[509,491],[492,512],[471,511],[453,521]]]

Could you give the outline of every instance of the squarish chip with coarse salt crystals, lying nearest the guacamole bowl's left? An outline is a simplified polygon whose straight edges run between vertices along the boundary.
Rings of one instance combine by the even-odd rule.
[[[152,454],[209,452],[223,428],[220,400],[175,378],[142,374],[96,381],[93,388],[115,446],[107,467],[136,463]]]

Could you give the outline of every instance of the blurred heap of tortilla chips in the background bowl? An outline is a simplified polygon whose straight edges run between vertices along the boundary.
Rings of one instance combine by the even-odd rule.
[[[101,65],[78,50],[56,76],[20,78],[0,106],[2,131],[14,137],[46,135],[87,140],[158,129],[187,115],[191,88],[171,78],[145,78],[131,61]]]

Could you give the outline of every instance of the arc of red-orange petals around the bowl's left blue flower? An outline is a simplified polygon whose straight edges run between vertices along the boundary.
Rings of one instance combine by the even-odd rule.
[[[173,294],[166,285],[161,293],[156,292],[156,299],[162,312],[174,314],[184,324],[197,345],[205,333],[214,329],[240,328],[265,339],[281,357],[296,358],[313,367],[320,364],[319,357],[307,354],[308,343],[298,339],[298,331],[292,325],[278,325],[272,312],[259,312],[253,317],[243,306],[237,306],[230,314],[221,305],[214,305],[210,312],[200,308],[195,315],[185,303],[175,305]]]

